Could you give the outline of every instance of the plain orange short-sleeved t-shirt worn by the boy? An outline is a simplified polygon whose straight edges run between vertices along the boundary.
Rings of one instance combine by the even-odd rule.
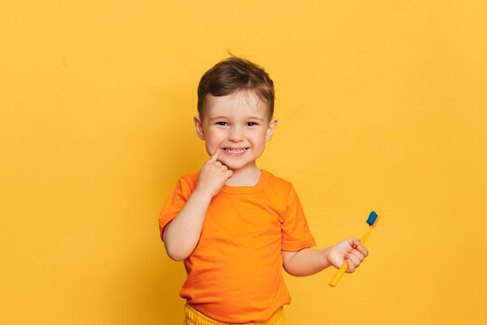
[[[197,180],[198,173],[192,173],[177,182],[159,217],[161,237]],[[262,171],[257,185],[224,185],[213,197],[200,241],[184,260],[188,277],[180,294],[213,320],[268,320],[291,302],[281,250],[315,245],[293,185]]]

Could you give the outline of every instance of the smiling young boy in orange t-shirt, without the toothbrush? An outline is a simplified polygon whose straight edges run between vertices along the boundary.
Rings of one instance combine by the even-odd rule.
[[[211,158],[184,175],[159,217],[167,254],[184,261],[185,324],[286,324],[283,280],[346,260],[351,273],[368,251],[358,238],[315,246],[293,185],[259,170],[276,129],[274,84],[256,64],[231,57],[198,87],[196,133]]]

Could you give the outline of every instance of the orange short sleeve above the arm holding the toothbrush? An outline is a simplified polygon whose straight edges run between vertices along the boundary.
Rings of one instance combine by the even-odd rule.
[[[281,224],[281,232],[282,250],[297,251],[316,245],[306,218],[304,217],[301,201],[292,185],[287,196],[286,212]]]

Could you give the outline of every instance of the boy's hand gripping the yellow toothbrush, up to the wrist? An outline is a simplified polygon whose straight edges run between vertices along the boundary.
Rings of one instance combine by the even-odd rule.
[[[349,265],[346,273],[352,273],[369,255],[367,248],[360,245],[361,240],[359,238],[347,238],[331,246],[326,258],[336,268],[340,268],[346,260]]]

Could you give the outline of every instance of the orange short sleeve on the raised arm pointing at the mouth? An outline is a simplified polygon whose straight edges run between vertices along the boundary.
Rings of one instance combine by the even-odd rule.
[[[164,227],[177,216],[179,211],[183,209],[186,201],[190,199],[192,190],[194,190],[194,186],[192,185],[191,178],[183,176],[177,181],[176,186],[174,186],[173,191],[169,195],[169,198],[165,202],[161,214],[159,215],[161,239],[163,238]]]

